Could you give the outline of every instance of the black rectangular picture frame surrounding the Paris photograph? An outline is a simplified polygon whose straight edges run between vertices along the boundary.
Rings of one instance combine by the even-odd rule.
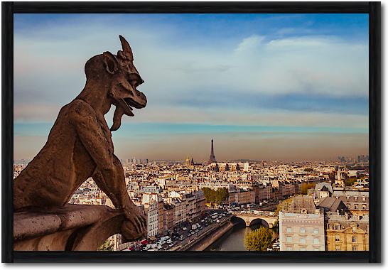
[[[3,262],[381,262],[381,17],[380,2],[2,2]],[[369,252],[14,252],[14,13],[368,13],[369,14]]]

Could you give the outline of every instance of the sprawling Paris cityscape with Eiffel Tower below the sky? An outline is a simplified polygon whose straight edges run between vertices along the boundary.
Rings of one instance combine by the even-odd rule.
[[[331,162],[122,160],[127,192],[145,212],[144,239],[109,237],[114,251],[366,251],[369,157]],[[14,178],[26,167],[15,161]],[[70,204],[114,207],[90,178]],[[271,238],[247,246],[264,227]],[[254,246],[254,245],[253,245]]]

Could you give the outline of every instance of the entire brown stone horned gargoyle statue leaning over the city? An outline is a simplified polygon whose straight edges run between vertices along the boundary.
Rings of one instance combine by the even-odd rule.
[[[120,36],[122,50],[105,52],[85,64],[86,85],[80,95],[58,114],[48,140],[38,155],[14,180],[14,211],[63,207],[75,190],[92,177],[117,209],[124,212],[121,232],[139,239],[146,218],[126,191],[124,170],[114,155],[111,131],[119,129],[132,107],[146,106],[146,96],[136,90],[144,81],[134,66],[129,43]],[[104,114],[116,107],[111,129]]]

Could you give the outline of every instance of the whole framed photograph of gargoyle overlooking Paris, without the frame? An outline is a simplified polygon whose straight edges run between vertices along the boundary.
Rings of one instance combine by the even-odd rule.
[[[368,22],[15,14],[14,250],[367,251]]]

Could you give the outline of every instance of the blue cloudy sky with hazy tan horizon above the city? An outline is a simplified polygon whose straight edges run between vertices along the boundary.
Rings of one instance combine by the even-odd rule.
[[[147,107],[119,158],[328,160],[368,148],[367,14],[16,14],[14,158],[33,158],[85,62],[134,51]],[[114,107],[112,107],[114,109]],[[110,126],[112,112],[106,116]]]

